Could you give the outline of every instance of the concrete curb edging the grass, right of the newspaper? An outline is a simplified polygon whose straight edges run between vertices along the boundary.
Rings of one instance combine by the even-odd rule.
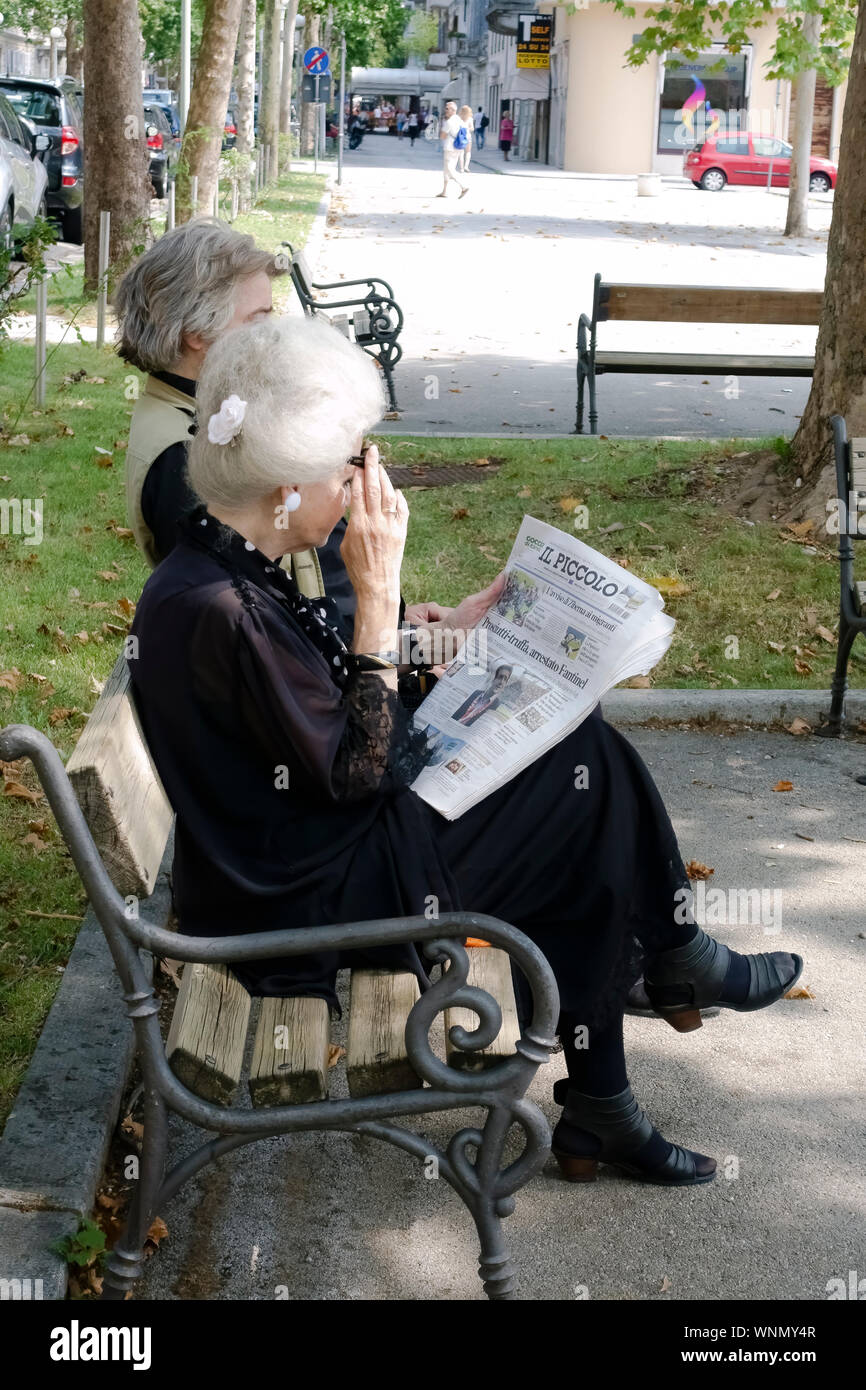
[[[741,724],[790,724],[805,719],[815,728],[830,709],[828,691],[694,691],[613,689],[602,699],[605,719],[612,724],[646,724],[653,719],[671,723],[727,720]],[[866,719],[866,691],[849,691],[848,720]]]

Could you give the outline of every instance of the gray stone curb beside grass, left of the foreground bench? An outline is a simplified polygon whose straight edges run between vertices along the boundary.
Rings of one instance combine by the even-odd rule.
[[[171,909],[170,862],[143,903],[157,926]],[[108,944],[88,908],[0,1138],[0,1280],[42,1280],[24,1297],[65,1297],[67,1266],[49,1245],[93,1209],[133,1055]]]

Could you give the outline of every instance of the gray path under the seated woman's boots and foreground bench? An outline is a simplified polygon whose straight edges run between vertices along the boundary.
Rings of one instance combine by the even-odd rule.
[[[719,1159],[708,1187],[664,1191],[606,1169],[563,1183],[553,1163],[506,1222],[523,1298],[822,1300],[866,1275],[863,1026],[866,746],[788,734],[637,731],[684,856],[710,885],[778,888],[781,930],[716,926],[742,951],[806,959],[813,998],[721,1013],[680,1037],[627,1019],[635,1094],[670,1138]],[[792,792],[773,792],[780,780]],[[532,1098],[553,1122],[552,1081]],[[345,1094],[335,1072],[335,1094]],[[461,1123],[473,1123],[467,1116]],[[418,1130],[442,1143],[457,1127]],[[190,1131],[172,1126],[172,1156]],[[727,1176],[726,1176],[727,1173]],[[297,1136],[220,1161],[163,1213],[168,1238],[140,1297],[464,1300],[482,1297],[475,1233],[443,1182],[374,1140]],[[783,1319],[784,1320],[784,1319]]]

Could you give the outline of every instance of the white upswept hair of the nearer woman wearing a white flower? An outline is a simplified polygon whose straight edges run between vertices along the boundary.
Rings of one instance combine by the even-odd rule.
[[[239,435],[211,443],[224,400],[246,411]],[[385,410],[379,367],[320,318],[270,318],[234,328],[209,349],[196,391],[199,428],[189,482],[229,510],[281,486],[321,482],[357,453],[359,435]]]

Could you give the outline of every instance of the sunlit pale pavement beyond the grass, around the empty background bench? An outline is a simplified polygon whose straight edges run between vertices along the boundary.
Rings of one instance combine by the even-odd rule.
[[[441,190],[438,149],[368,136],[346,154],[317,278],[379,274],[406,314],[398,379],[400,432],[569,434],[574,428],[577,320],[592,277],[820,288],[830,197],[813,231],[783,234],[785,200],[762,189],[701,193],[669,182],[637,197],[634,181],[566,178],[506,165],[485,149],[471,192]],[[788,328],[610,324],[606,346],[641,350],[810,352]],[[599,384],[599,428],[623,435],[791,434],[809,382],[659,374]],[[438,395],[436,395],[438,392]]]

